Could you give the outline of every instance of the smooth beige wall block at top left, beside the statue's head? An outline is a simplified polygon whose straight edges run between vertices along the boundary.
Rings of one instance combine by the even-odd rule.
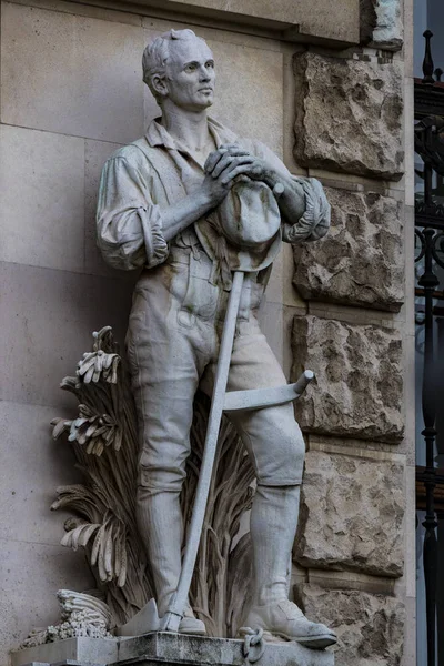
[[[142,135],[142,28],[4,2],[2,30],[2,122],[122,143]]]

